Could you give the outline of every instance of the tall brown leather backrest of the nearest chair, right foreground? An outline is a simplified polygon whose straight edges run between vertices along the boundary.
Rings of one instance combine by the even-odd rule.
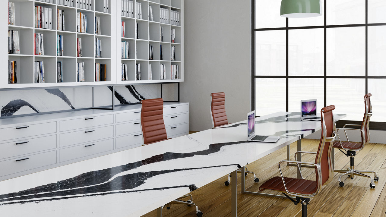
[[[320,165],[320,172],[317,177],[322,176],[322,185],[329,183],[332,180],[334,168],[332,166],[331,149],[335,138],[335,120],[332,110],[335,105],[329,105],[322,108],[320,111],[322,117],[322,136],[320,137],[319,147],[315,163]],[[317,178],[318,181],[318,178]]]

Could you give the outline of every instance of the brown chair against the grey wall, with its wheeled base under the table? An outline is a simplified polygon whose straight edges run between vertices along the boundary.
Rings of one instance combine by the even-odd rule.
[[[212,128],[220,127],[228,124],[227,113],[225,112],[225,93],[211,93],[212,102],[210,103],[210,115],[212,117]],[[237,170],[237,173],[241,173],[241,170]],[[256,178],[254,172],[248,171],[248,168],[245,167],[245,176],[247,174],[253,174],[253,180],[259,182],[259,179]],[[228,175],[228,180],[224,182],[226,186],[230,184],[230,173]]]

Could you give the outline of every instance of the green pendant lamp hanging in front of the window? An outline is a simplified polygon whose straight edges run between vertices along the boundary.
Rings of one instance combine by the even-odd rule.
[[[321,15],[320,0],[281,0],[281,17],[317,17]]]

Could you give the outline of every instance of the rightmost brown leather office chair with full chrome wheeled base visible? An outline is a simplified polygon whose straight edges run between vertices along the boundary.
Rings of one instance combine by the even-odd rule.
[[[356,151],[361,151],[365,145],[367,145],[370,142],[370,131],[369,131],[369,122],[370,117],[372,113],[372,107],[370,102],[371,93],[367,93],[364,95],[364,116],[362,120],[362,124],[345,124],[343,128],[337,129],[337,136],[339,141],[334,142],[333,147],[339,149],[342,151],[343,154],[345,154],[347,157],[350,156],[350,167],[347,168],[347,170],[334,170],[334,172],[338,173],[344,173],[339,176],[339,186],[343,187],[344,183],[343,181],[340,181],[340,178],[345,175],[349,175],[351,179],[354,179],[354,176],[364,176],[367,178],[370,178],[370,188],[375,188],[374,181],[372,181],[372,177],[365,175],[364,173],[374,173],[374,180],[378,181],[379,177],[377,176],[377,173],[375,171],[365,171],[365,170],[354,170],[354,156],[356,155]],[[357,126],[358,128],[347,128],[346,126]],[[347,141],[341,141],[338,131],[343,130],[346,136]],[[361,132],[361,142],[350,142],[349,137],[347,136],[346,130],[354,130],[354,131],[360,131]]]

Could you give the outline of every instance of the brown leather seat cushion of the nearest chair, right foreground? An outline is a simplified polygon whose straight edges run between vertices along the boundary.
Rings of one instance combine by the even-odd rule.
[[[310,195],[315,193],[318,188],[317,182],[312,180],[284,177],[284,181],[286,182],[288,191],[292,193]],[[283,180],[281,180],[280,176],[273,177],[270,180],[264,182],[262,185],[260,185],[259,189],[261,191],[267,189],[284,193],[286,192]]]

